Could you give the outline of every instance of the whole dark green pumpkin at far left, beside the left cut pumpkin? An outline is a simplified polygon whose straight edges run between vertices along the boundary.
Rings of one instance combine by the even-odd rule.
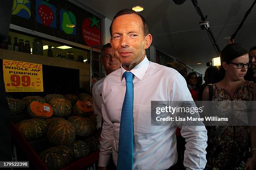
[[[23,112],[25,105],[22,100],[9,97],[6,97],[6,100],[8,102],[11,115],[19,115]]]

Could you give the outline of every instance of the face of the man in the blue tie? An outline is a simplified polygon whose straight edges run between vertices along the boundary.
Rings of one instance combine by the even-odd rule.
[[[152,36],[144,35],[143,22],[136,14],[121,15],[112,24],[110,43],[125,70],[131,70],[145,57]]]

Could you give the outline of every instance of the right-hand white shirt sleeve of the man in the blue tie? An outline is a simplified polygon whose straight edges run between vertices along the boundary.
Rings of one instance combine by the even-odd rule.
[[[174,75],[172,82],[171,101],[193,101],[187,83],[179,73]],[[186,140],[184,152],[184,166],[187,170],[203,170],[207,163],[207,130],[205,126],[187,126],[184,121],[177,123],[181,128],[181,135]]]

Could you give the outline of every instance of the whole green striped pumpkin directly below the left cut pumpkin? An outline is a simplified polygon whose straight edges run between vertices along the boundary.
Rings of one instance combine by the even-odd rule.
[[[47,122],[44,119],[23,120],[16,124],[20,133],[26,140],[33,140],[43,137],[47,131]]]

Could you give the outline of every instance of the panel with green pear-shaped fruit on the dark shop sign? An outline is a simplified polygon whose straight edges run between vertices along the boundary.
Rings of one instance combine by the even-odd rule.
[[[76,35],[76,17],[71,11],[60,10],[61,22],[60,22],[60,30],[64,31],[67,34]]]

